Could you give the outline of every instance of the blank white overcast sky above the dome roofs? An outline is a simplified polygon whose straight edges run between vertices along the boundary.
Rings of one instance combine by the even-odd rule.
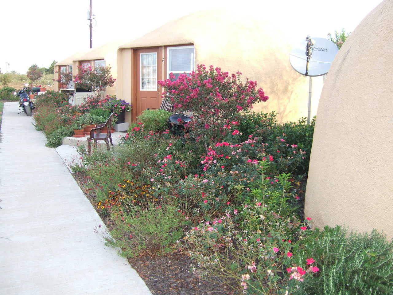
[[[353,31],[381,0],[93,0],[93,46],[132,41],[170,20],[207,9],[234,9],[277,22],[293,40],[326,38],[334,30]],[[0,0],[0,68],[26,73],[37,63],[48,67],[89,48],[89,0]],[[119,29],[120,28],[120,29]],[[176,30],[176,28],[173,28]]]

